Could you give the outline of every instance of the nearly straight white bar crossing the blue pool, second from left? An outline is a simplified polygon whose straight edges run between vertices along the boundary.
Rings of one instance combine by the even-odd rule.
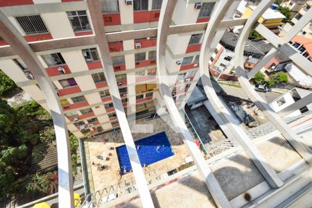
[[[119,121],[119,126],[121,128],[121,133],[123,135],[123,140],[125,141],[125,146],[128,151],[133,175],[135,175],[135,182],[137,184],[139,196],[143,207],[154,207],[152,197],[150,196],[150,191],[146,184],[146,178],[139,161],[139,156],[137,155],[135,141],[133,141],[130,126],[127,117],[125,116],[125,111],[123,110],[123,103],[121,102],[121,96],[119,94],[119,89],[114,74],[112,58],[110,56],[107,35],[105,33],[101,4],[99,0],[87,0],[87,5],[89,7],[90,17],[94,27],[94,33],[96,35],[96,42],[98,44],[102,62],[105,68],[105,77],[110,89],[110,94],[112,95],[112,102],[116,109],[116,115]]]

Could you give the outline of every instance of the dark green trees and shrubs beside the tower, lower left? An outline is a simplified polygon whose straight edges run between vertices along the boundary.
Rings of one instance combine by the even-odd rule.
[[[8,98],[22,90],[1,70],[0,83],[1,207],[13,200],[17,204],[26,203],[57,192],[58,167],[55,132],[49,112],[33,100],[8,105]],[[76,173],[78,139],[69,135],[73,173]],[[52,150],[55,151],[53,163],[42,166],[40,162]]]

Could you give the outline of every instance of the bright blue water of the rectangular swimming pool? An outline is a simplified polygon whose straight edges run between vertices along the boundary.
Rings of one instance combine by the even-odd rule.
[[[139,155],[142,167],[144,164],[153,164],[159,160],[166,159],[167,157],[174,155],[166,132],[160,132],[156,135],[139,139],[135,141],[135,146],[136,148],[139,146],[139,148],[137,148],[137,154]],[[125,148],[125,145],[116,147],[116,152],[118,155],[121,174],[125,174],[124,171],[129,173],[132,167],[127,148]]]

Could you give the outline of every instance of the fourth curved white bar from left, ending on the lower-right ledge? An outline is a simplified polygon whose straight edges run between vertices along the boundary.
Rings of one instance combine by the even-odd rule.
[[[225,31],[224,29],[223,31],[220,31],[219,34],[217,34],[215,31],[218,30],[218,20],[225,17],[225,13],[231,5],[231,1],[221,0],[214,14],[211,16],[204,35],[202,47],[200,49],[200,78],[202,80],[205,93],[207,94],[212,107],[214,107],[214,110],[216,110],[216,112],[220,115],[220,118],[223,120],[225,125],[227,125],[227,128],[231,130],[236,141],[238,141],[239,144],[243,147],[245,153],[247,153],[250,159],[252,159],[252,162],[254,162],[270,186],[273,188],[278,188],[281,187],[284,183],[279,179],[272,166],[266,162],[266,159],[263,157],[263,155],[261,155],[256,146],[252,144],[252,141],[248,135],[246,135],[244,130],[236,124],[232,115],[227,111],[227,108],[218,98],[210,80],[209,59],[211,58],[212,53],[214,53],[215,48],[215,46],[210,46],[210,44],[212,42],[219,42],[220,38],[223,36]]]

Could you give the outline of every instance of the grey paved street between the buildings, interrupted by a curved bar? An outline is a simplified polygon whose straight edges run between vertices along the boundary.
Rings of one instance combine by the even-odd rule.
[[[239,98],[248,99],[248,96],[245,94],[243,89],[239,87],[231,87],[228,85],[220,85],[220,86],[225,91],[225,93],[230,96],[236,96]],[[258,94],[260,94],[260,96],[268,103],[274,101],[276,98],[281,96],[281,94],[277,94],[275,92],[258,92]]]

